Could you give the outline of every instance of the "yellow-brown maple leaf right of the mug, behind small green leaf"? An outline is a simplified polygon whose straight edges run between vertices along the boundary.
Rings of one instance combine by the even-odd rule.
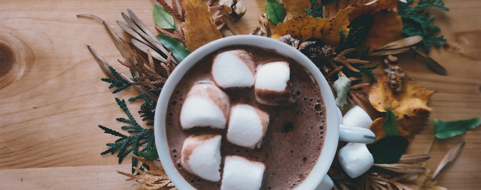
[[[382,76],[374,83],[369,91],[369,101],[379,112],[386,112],[383,106],[388,107],[397,117],[398,134],[413,139],[428,120],[430,111],[427,103],[435,91],[427,90],[406,78],[400,93],[392,91],[386,76]],[[376,140],[386,136],[382,123],[384,118],[375,119],[371,130],[376,134]]]

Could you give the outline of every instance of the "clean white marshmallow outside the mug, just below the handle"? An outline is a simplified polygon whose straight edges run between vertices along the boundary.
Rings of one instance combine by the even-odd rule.
[[[366,144],[347,143],[339,150],[339,162],[349,177],[356,178],[366,173],[374,165],[374,158]]]

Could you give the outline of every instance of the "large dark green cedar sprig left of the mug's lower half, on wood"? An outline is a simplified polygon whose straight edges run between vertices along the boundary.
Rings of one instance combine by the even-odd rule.
[[[144,99],[146,102],[144,103],[145,105],[153,105],[152,101],[149,101],[145,95],[140,95],[139,97],[134,97],[131,98],[131,100],[138,100],[138,99]],[[117,150],[117,157],[119,158],[119,164],[122,163],[123,159],[125,156],[128,154],[132,153],[134,155],[139,156],[140,152],[147,152],[153,147],[154,143],[154,135],[153,135],[153,129],[152,128],[143,128],[137,123],[135,120],[134,116],[130,114],[127,108],[127,104],[125,100],[119,100],[118,98],[115,98],[115,101],[117,101],[117,104],[122,108],[122,110],[127,114],[128,118],[117,118],[117,121],[127,123],[130,125],[127,126],[122,126],[122,129],[127,129],[127,133],[131,134],[130,136],[124,135],[118,131],[115,131],[113,129],[110,129],[108,127],[104,127],[99,125],[99,127],[104,131],[104,133],[114,135],[116,137],[120,137],[119,139],[115,140],[114,143],[107,143],[106,145],[111,147],[108,150],[101,152],[101,155],[111,153],[114,154]],[[142,104],[142,105],[144,105]],[[139,146],[145,145],[144,148],[142,148],[140,151],[138,149],[140,148]],[[137,166],[137,159],[132,158],[132,167]],[[132,168],[132,173],[135,170]]]

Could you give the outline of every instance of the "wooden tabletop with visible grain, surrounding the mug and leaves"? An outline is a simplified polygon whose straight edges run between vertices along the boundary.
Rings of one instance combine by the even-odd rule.
[[[430,12],[448,42],[456,42],[456,33],[481,30],[479,0],[445,1],[451,11]],[[264,2],[244,0],[247,13],[238,23],[243,34],[258,25]],[[119,129],[115,118],[125,115],[114,97],[127,99],[137,92],[112,94],[109,84],[101,82],[106,76],[85,44],[116,68],[122,68],[116,63],[121,55],[99,21],[76,15],[95,14],[128,39],[115,20],[122,20],[120,13],[129,8],[157,33],[153,4],[153,0],[0,1],[0,189],[133,189],[115,172],[130,171],[129,160],[118,165],[114,155],[100,155],[107,149],[105,143],[116,138],[97,125]],[[433,108],[428,127],[416,136],[409,153],[429,149],[433,118],[481,116],[481,62],[446,49],[433,49],[430,55],[448,76],[434,74],[410,57],[401,64],[418,84],[437,91],[428,104]],[[136,114],[139,103],[128,106]],[[438,181],[448,189],[481,189],[481,127],[451,139],[434,139],[428,167],[434,170],[461,140],[466,141],[463,152]]]

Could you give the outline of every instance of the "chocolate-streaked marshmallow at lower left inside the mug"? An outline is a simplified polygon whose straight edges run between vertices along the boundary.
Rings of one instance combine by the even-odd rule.
[[[221,135],[192,135],[184,140],[180,164],[187,171],[209,181],[220,180]]]

